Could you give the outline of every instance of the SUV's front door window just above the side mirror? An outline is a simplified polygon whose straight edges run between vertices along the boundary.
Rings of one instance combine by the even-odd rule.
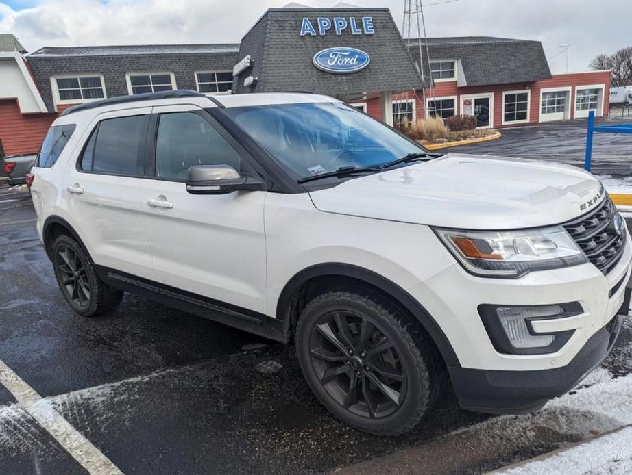
[[[158,177],[184,180],[191,166],[219,164],[239,170],[239,153],[204,118],[194,112],[160,116],[156,139]]]

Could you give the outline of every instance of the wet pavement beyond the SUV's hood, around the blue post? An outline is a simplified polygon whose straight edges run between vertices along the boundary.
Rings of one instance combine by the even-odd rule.
[[[632,123],[622,118],[597,118],[597,125]],[[583,167],[586,146],[586,120],[544,123],[500,129],[502,137],[490,142],[456,146],[439,152],[476,153],[560,162]],[[595,133],[592,172],[596,174],[632,173],[632,135]]]

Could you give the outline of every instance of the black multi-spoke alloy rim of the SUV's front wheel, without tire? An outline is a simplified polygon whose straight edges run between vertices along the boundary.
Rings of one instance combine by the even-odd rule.
[[[359,313],[331,311],[314,326],[312,364],[320,383],[344,409],[365,418],[397,411],[406,372],[393,343]]]

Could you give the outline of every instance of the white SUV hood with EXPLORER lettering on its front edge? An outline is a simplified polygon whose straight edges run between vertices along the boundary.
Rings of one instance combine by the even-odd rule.
[[[532,160],[450,153],[311,192],[320,211],[463,229],[559,224],[590,211],[590,173]],[[598,199],[595,199],[595,198]]]

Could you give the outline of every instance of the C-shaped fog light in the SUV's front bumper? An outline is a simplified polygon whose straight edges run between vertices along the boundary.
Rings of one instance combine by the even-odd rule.
[[[527,318],[556,317],[564,313],[559,305],[545,307],[498,307],[500,324],[514,348],[544,348],[555,341],[555,335],[532,335]]]

